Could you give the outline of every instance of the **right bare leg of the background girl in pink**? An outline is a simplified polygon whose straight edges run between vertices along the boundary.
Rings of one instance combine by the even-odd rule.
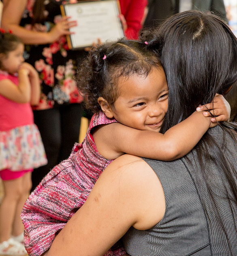
[[[22,193],[17,202],[15,217],[13,220],[13,226],[12,226],[13,236],[19,236],[19,234],[21,234],[24,230],[24,226],[21,220],[21,211],[28,196],[30,195],[30,189],[32,187],[31,171],[28,171],[24,176],[21,177],[21,182],[22,182],[21,183]]]

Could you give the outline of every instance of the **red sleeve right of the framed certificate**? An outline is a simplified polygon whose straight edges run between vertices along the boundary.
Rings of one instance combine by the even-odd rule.
[[[121,13],[128,25],[125,31],[128,39],[138,39],[146,6],[147,0],[120,0]]]

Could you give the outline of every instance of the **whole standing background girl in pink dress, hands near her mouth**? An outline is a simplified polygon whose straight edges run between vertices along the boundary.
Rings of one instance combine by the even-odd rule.
[[[24,45],[15,35],[0,32],[1,255],[26,254],[20,214],[32,186],[33,168],[47,163],[30,106],[39,101],[38,73],[23,63],[23,52]]]

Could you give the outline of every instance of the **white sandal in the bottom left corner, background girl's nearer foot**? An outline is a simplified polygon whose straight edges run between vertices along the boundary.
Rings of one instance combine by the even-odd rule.
[[[27,252],[21,243],[9,238],[7,241],[0,243],[0,256],[5,255],[23,256],[27,255]]]

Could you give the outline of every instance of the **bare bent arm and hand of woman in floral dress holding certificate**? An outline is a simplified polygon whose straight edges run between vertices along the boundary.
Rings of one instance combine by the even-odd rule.
[[[27,0],[4,0],[2,11],[1,26],[5,30],[12,30],[23,43],[26,44],[45,44],[57,41],[62,35],[70,35],[69,28],[76,26],[75,21],[69,21],[69,17],[63,17],[50,32],[38,32],[27,30],[19,26],[21,17],[26,9]]]

